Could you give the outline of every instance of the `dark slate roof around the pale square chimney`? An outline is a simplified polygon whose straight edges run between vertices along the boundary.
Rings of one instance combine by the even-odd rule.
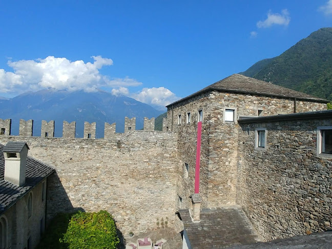
[[[4,180],[5,158],[3,150],[4,146],[0,144],[0,215],[54,171],[49,165],[28,156],[26,184],[23,186],[12,184]]]

